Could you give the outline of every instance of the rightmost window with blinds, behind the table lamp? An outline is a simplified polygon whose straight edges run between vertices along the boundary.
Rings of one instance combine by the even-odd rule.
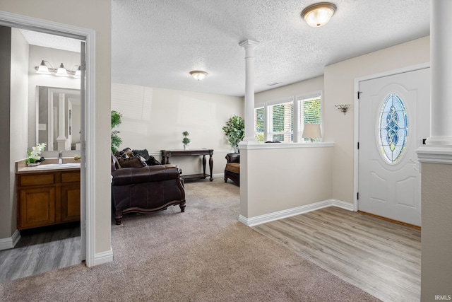
[[[304,124],[321,124],[321,93],[297,95],[298,141],[309,141],[302,137]],[[321,141],[322,139],[314,139]]]

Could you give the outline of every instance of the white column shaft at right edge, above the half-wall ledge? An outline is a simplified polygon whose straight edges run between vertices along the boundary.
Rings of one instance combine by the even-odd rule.
[[[452,145],[452,1],[433,0],[430,11],[432,71],[430,137],[427,145]]]

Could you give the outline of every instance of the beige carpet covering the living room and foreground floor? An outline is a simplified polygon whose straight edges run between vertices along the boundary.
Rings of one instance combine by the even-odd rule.
[[[114,261],[0,284],[1,301],[379,301],[237,221],[239,187],[186,182],[186,211],[112,225]]]

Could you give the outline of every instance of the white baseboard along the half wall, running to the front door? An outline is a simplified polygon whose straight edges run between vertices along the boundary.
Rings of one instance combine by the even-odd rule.
[[[315,202],[314,204],[307,204],[301,207],[296,207],[292,209],[286,209],[283,211],[276,211],[269,214],[264,214],[260,216],[246,218],[242,215],[239,215],[239,221],[242,222],[246,226],[257,226],[258,224],[267,223],[270,221],[275,221],[279,219],[284,219],[290,216],[295,216],[299,214],[304,214],[309,211],[315,211],[318,209],[323,209],[326,207],[340,207],[342,209],[346,209],[349,211],[353,211],[353,204],[349,202],[342,202],[336,199],[328,199],[323,202]]]

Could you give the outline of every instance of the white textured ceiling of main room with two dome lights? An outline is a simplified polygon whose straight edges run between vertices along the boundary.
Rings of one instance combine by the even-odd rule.
[[[300,13],[315,0],[112,0],[112,81],[244,95],[244,49],[255,51],[255,90],[323,74],[329,64],[429,35],[429,0],[331,0],[321,28]],[[196,81],[191,70],[208,76]],[[270,83],[278,82],[275,86]]]

